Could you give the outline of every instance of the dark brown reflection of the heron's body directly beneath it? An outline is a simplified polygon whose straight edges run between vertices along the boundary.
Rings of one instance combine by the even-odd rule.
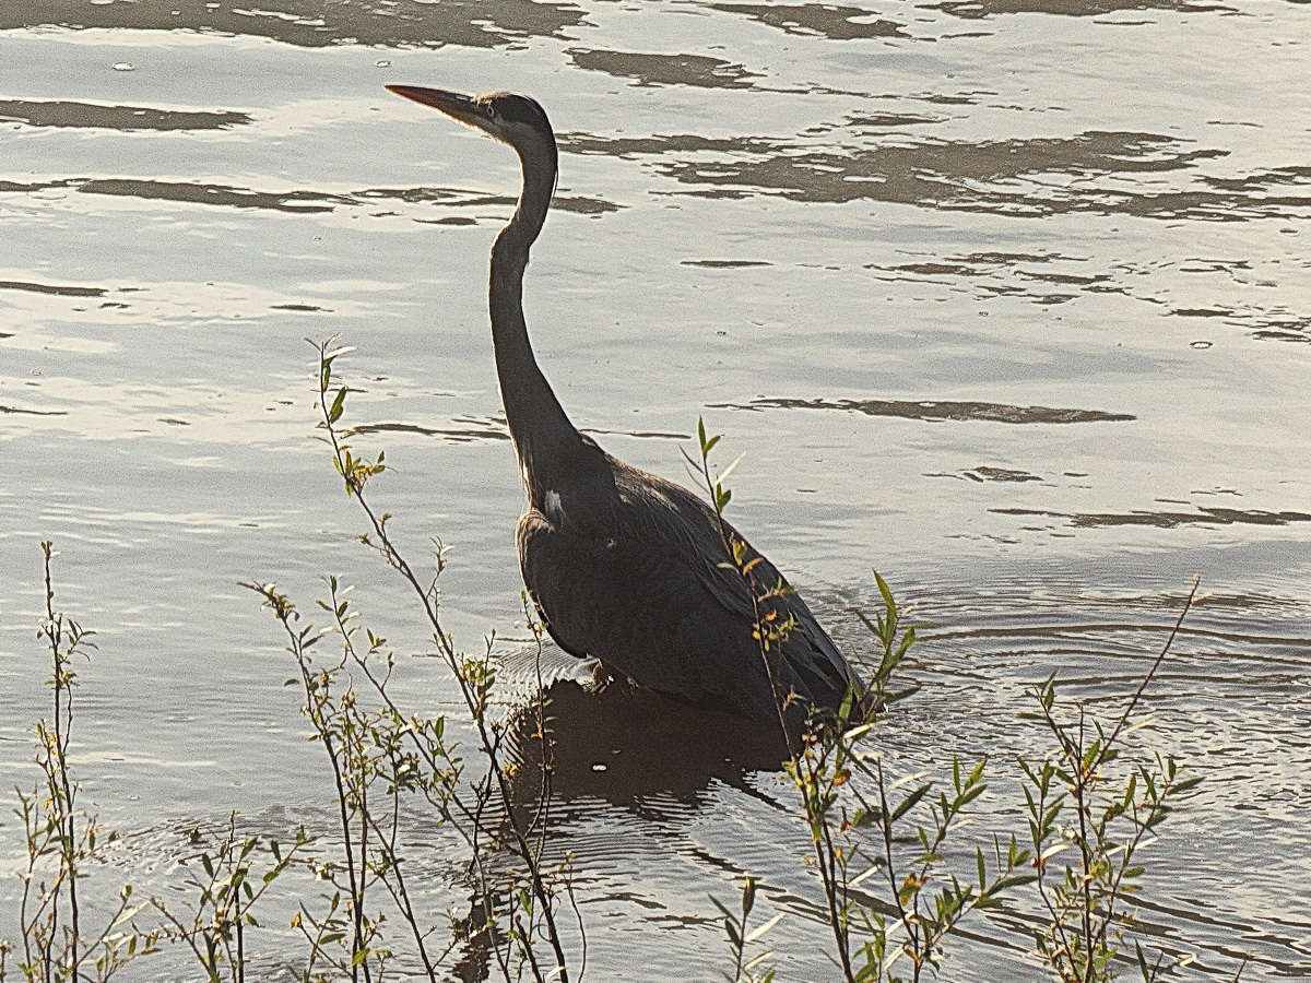
[[[547,700],[552,790],[560,802],[593,798],[633,807],[658,796],[695,806],[712,781],[746,789],[747,772],[777,771],[787,756],[773,727],[627,683],[590,691],[560,679]],[[541,742],[532,731],[531,718],[520,718],[514,738],[515,759],[524,765],[515,789],[528,806],[541,784]]]

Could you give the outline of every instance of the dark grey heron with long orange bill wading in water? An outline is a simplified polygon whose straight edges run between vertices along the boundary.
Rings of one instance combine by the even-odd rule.
[[[551,637],[641,685],[766,725],[779,725],[781,704],[793,731],[808,708],[835,710],[855,676],[800,595],[751,547],[734,562],[725,533],[741,536],[721,528],[700,498],[579,434],[538,367],[523,273],[556,187],[545,111],[511,92],[387,88],[509,144],[523,166],[519,204],[492,246],[489,305],[501,400],[528,493],[519,565]],[[755,637],[762,621],[792,625],[767,655]]]

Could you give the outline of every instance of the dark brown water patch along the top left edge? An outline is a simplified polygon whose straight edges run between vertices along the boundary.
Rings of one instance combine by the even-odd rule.
[[[579,7],[548,0],[33,0],[0,5],[0,30],[24,28],[195,31],[270,38],[299,47],[509,47],[564,37]]]

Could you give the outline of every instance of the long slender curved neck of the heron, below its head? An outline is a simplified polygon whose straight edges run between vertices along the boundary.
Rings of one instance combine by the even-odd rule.
[[[528,249],[547,219],[556,183],[555,160],[548,164],[524,163],[519,207],[492,248],[489,305],[501,401],[520,465],[530,472],[558,459],[581,439],[538,367],[523,320]]]

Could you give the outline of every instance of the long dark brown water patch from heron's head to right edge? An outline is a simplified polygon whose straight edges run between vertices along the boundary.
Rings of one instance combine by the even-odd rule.
[[[620,157],[713,153],[716,160],[657,160],[653,166],[686,194],[745,198],[776,194],[796,202],[860,199],[1008,216],[1134,215],[1240,222],[1311,215],[1311,195],[1273,194],[1304,183],[1298,169],[1268,172],[1255,190],[1214,178],[1188,190],[1133,191],[1106,180],[1193,169],[1227,151],[1185,148],[1155,134],[1087,131],[1068,138],[969,143],[926,140],[852,149],[814,148],[768,138],[599,138],[573,135],[562,148]]]

